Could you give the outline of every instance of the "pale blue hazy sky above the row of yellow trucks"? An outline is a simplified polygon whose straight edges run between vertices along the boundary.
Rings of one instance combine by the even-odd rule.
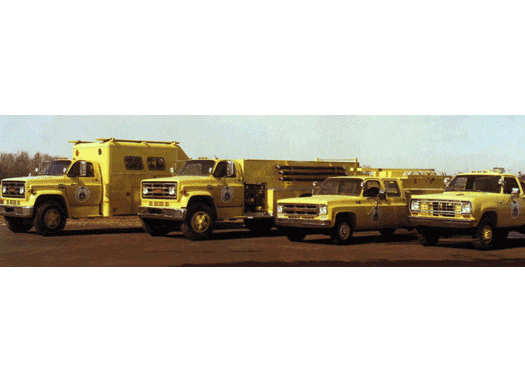
[[[69,140],[177,140],[190,157],[350,159],[373,167],[525,172],[525,116],[0,116],[1,152]]]

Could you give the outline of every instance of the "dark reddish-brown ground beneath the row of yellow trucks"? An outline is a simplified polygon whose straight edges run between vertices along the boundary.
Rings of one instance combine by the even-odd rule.
[[[419,244],[415,231],[385,239],[356,233],[348,246],[323,235],[290,242],[277,229],[252,234],[242,223],[218,224],[208,241],[181,232],[150,237],[137,217],[69,220],[56,237],[10,232],[0,221],[0,266],[524,266],[525,235],[511,233],[495,250],[478,251],[468,237]]]

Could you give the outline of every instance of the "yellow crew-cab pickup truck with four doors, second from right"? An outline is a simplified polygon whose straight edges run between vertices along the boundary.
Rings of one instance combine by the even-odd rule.
[[[354,231],[379,230],[391,235],[397,228],[410,228],[409,189],[417,193],[443,190],[445,175],[434,171],[410,173],[404,178],[373,176],[331,177],[312,197],[279,200],[275,225],[292,242],[308,234],[329,235],[336,244],[347,244]]]

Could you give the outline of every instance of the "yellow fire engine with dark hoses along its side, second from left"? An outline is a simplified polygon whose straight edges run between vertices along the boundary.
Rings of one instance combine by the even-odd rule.
[[[139,217],[152,236],[180,227],[191,240],[206,239],[216,221],[236,219],[265,232],[273,227],[277,200],[310,196],[313,182],[359,171],[357,159],[189,160],[177,176],[142,182]]]

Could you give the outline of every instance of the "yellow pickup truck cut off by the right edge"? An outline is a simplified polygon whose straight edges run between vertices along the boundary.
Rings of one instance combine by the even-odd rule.
[[[501,169],[461,173],[442,194],[414,196],[410,223],[425,246],[471,235],[477,249],[490,249],[511,230],[525,233],[525,194],[518,178]]]

